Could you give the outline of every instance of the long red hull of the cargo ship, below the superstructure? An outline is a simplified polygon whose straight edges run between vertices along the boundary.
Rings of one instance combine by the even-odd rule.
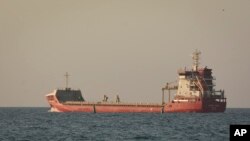
[[[196,101],[176,102],[162,105],[135,104],[61,104],[49,101],[54,112],[90,112],[90,113],[169,113],[169,112],[224,112],[226,102]]]

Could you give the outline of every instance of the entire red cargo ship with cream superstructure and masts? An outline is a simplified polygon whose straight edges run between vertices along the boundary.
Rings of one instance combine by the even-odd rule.
[[[99,102],[89,102],[82,96],[81,90],[68,87],[56,89],[46,95],[51,112],[89,112],[89,113],[168,113],[168,112],[224,112],[226,97],[224,90],[215,90],[215,77],[212,69],[199,67],[200,51],[193,53],[191,69],[178,70],[178,81],[166,83],[162,88],[162,101],[158,104],[125,103],[119,96],[109,101],[104,95]],[[168,101],[165,102],[165,92]],[[173,97],[173,98],[171,98]]]

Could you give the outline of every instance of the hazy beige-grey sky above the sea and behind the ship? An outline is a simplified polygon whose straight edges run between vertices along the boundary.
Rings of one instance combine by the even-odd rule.
[[[160,103],[195,49],[250,108],[249,0],[0,0],[0,106],[48,106],[65,72],[89,101]]]

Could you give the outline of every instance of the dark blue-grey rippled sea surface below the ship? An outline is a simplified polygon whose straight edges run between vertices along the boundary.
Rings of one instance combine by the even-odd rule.
[[[0,108],[1,141],[229,140],[230,124],[250,124],[250,109],[225,113],[51,113]]]

